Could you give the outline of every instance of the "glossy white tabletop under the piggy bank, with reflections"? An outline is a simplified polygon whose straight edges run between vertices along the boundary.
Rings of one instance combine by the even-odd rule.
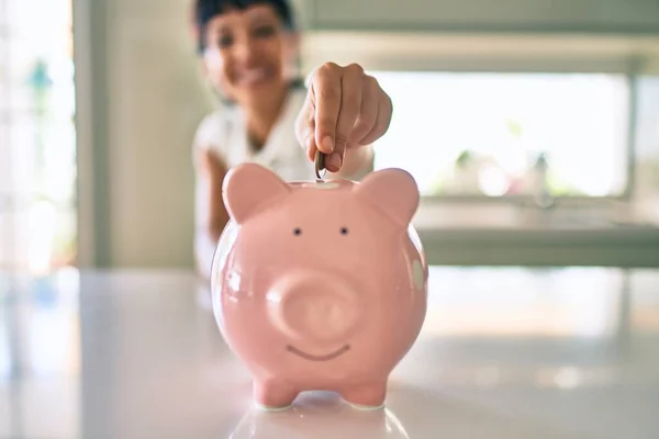
[[[250,381],[183,271],[0,274],[1,438],[659,438],[659,271],[432,268],[387,409]]]

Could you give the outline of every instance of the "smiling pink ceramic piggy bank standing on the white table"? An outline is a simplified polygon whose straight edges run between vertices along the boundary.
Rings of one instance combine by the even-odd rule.
[[[213,312],[254,378],[256,405],[286,409],[317,390],[382,408],[389,374],[426,313],[412,176],[284,182],[243,164],[223,195],[230,222],[213,258]]]

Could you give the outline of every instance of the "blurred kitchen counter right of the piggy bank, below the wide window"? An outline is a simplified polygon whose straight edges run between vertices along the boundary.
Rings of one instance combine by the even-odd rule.
[[[625,203],[427,203],[414,226],[434,264],[659,268],[659,221]]]

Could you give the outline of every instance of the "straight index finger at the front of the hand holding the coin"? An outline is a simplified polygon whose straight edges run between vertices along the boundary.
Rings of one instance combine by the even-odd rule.
[[[336,122],[340,110],[340,68],[333,63],[316,70],[312,81],[315,105],[315,144],[325,154],[334,151]]]

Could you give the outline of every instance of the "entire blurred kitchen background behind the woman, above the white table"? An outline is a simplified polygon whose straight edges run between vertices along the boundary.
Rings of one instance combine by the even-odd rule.
[[[659,266],[659,2],[294,3],[392,95],[432,263]],[[193,266],[188,5],[0,0],[0,269]]]

